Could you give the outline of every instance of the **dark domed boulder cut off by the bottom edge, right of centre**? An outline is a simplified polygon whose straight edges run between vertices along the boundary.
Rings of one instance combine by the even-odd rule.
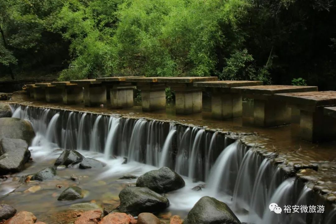
[[[216,198],[204,196],[189,211],[183,224],[241,224],[236,215]]]

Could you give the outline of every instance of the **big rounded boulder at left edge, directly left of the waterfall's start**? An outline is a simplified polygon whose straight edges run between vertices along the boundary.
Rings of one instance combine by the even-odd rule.
[[[34,137],[35,132],[29,121],[19,118],[0,118],[0,139],[18,138],[30,145]]]

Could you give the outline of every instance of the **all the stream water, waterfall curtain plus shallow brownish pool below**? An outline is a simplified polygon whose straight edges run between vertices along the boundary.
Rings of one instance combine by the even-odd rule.
[[[168,166],[182,175],[186,185],[166,194],[170,207],[165,212],[184,218],[202,196],[208,195],[224,201],[241,222],[305,223],[304,215],[276,214],[269,211],[268,205],[308,205],[311,203],[310,188],[298,186],[294,178],[284,179],[281,169],[270,160],[263,159],[239,140],[233,142],[218,132],[145,118],[135,120],[30,106],[14,106],[13,117],[29,120],[37,134],[29,148],[33,162],[16,177],[11,177],[12,181],[2,182],[2,195],[17,187],[16,180],[20,176],[52,166],[60,149],[76,149],[85,157],[107,164],[97,170],[76,167],[57,170],[53,180],[25,183],[14,193],[0,198],[1,203],[8,203],[18,211],[33,212],[39,221],[61,223],[55,220],[55,214],[80,202],[93,200],[102,206],[117,206],[120,190],[135,183],[135,180],[120,180],[120,176],[140,176]],[[127,164],[123,164],[124,157],[127,157]],[[72,174],[82,176],[82,179],[74,182],[70,180]],[[192,190],[204,183],[206,187],[202,190]],[[57,201],[60,192],[74,184],[87,190],[87,195],[76,201]],[[27,191],[35,185],[41,188],[35,193]],[[328,217],[323,222],[315,218],[313,223],[331,224],[335,212]]]

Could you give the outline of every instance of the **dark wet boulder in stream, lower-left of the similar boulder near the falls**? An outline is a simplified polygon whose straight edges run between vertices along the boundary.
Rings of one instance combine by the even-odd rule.
[[[169,206],[169,200],[147,187],[126,187],[119,193],[119,211],[137,216],[143,212],[160,212]]]

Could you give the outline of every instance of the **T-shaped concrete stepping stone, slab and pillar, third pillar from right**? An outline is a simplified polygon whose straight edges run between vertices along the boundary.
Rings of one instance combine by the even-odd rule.
[[[216,119],[242,117],[243,99],[241,93],[233,93],[232,87],[262,85],[260,81],[211,81],[195,82],[195,87],[211,91],[211,115]]]

